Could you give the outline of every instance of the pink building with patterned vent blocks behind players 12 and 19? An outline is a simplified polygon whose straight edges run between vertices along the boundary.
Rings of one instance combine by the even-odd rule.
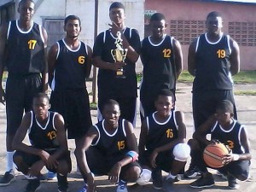
[[[212,11],[224,17],[224,32],[229,33],[240,45],[241,70],[256,70],[256,1],[220,0],[146,0],[145,35],[148,35],[148,19],[155,12],[166,15],[167,33],[182,44],[183,63],[187,67],[190,42],[206,32],[205,20]]]

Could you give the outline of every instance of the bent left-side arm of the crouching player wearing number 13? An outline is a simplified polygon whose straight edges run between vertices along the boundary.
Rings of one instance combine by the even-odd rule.
[[[21,121],[20,127],[18,128],[15,138],[13,141],[13,148],[15,150],[23,151],[27,154],[35,154],[39,155],[40,149],[33,148],[32,146],[28,146],[26,143],[23,143],[24,138],[26,137],[26,132],[31,125],[31,116],[32,113],[26,113]]]

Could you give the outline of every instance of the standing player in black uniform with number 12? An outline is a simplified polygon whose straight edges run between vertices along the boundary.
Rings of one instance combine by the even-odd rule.
[[[166,26],[165,15],[152,15],[152,35],[143,39],[143,83],[140,90],[142,119],[154,113],[154,101],[161,89],[172,90],[175,96],[176,81],[183,69],[181,45],[177,39],[165,34]]]

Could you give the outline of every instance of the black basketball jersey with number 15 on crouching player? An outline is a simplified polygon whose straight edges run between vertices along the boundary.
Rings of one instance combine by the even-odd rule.
[[[119,126],[113,134],[109,134],[104,127],[104,121],[95,125],[99,137],[92,145],[96,146],[106,158],[123,156],[128,152],[126,144],[125,119],[119,119]]]

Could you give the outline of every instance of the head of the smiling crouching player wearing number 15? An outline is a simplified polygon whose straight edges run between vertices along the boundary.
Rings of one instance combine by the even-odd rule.
[[[103,105],[102,116],[108,125],[116,127],[120,116],[119,103],[113,99],[109,99],[105,102]]]

